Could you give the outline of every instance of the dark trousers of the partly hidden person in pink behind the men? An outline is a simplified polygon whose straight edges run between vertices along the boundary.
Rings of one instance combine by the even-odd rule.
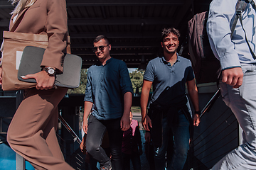
[[[130,161],[132,161],[132,166],[134,170],[141,170],[141,163],[140,163],[140,157],[139,154],[124,154],[123,159],[124,159],[124,166],[123,170],[130,170]]]

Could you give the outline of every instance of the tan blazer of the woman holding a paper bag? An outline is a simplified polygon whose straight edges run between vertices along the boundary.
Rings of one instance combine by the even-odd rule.
[[[55,67],[63,71],[63,52],[67,46],[67,11],[65,0],[37,0],[30,8],[18,14],[14,23],[11,16],[11,32],[48,34],[48,47],[41,66]]]

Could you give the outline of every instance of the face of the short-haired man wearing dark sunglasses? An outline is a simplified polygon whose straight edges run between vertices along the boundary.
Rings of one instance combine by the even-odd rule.
[[[98,42],[94,42],[93,46],[98,47],[97,51],[95,51],[95,55],[100,60],[100,62],[102,62],[102,64],[111,58],[110,57],[111,45],[108,45],[106,40],[102,39],[102,40],[99,40]],[[99,49],[100,46],[104,46],[104,49],[100,50]]]

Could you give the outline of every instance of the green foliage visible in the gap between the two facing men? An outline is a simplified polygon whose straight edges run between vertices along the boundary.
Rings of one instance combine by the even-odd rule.
[[[142,92],[143,75],[144,75],[144,71],[138,71],[138,70],[132,73],[129,73],[129,77],[132,81],[132,88],[134,90],[134,93]]]

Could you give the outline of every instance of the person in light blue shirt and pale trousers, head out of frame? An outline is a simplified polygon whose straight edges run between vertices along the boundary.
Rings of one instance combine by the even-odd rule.
[[[220,89],[243,130],[243,144],[221,159],[213,169],[255,169],[256,167],[256,60],[255,10],[247,4],[230,38],[237,0],[213,0],[207,22],[210,45],[220,60]],[[246,38],[250,48],[247,45]]]

